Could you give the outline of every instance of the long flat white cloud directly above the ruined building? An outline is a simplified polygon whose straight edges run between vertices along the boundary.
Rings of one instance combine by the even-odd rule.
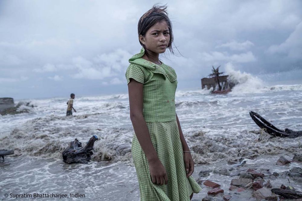
[[[227,52],[203,52],[202,59],[204,61],[226,61],[236,63],[248,63],[256,61],[256,58],[252,52],[233,55],[229,55]]]

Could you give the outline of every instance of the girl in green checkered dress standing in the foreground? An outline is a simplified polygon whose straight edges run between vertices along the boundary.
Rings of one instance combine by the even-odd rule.
[[[173,53],[166,8],[154,5],[140,18],[143,48],[126,71],[135,132],[131,152],[142,201],[189,201],[201,190],[191,176],[194,162],[175,112],[176,73],[159,60],[166,48]]]

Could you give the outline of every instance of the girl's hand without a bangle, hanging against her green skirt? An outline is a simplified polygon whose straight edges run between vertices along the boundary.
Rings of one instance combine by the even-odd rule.
[[[165,167],[159,159],[149,162],[149,171],[152,178],[152,183],[157,185],[168,184],[168,177]]]

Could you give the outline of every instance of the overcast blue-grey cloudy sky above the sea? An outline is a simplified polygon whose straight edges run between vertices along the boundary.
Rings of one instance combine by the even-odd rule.
[[[302,80],[302,1],[0,1],[0,97],[127,93],[137,22],[168,4],[178,89],[200,87],[212,65]]]

